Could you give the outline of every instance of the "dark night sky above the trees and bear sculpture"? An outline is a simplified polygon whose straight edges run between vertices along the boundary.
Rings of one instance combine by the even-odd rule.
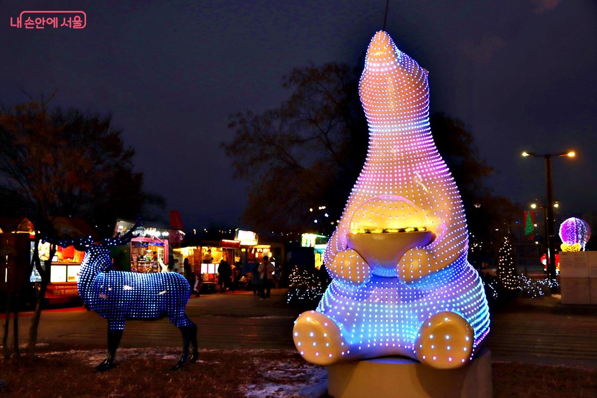
[[[230,113],[276,107],[281,78],[313,61],[356,64],[383,25],[376,1],[2,1],[0,104],[55,89],[54,106],[112,113],[146,189],[185,227],[239,225],[245,184],[220,149]],[[83,10],[82,30],[10,27],[23,10]],[[521,204],[555,159],[562,212],[597,210],[597,5],[589,0],[396,1],[387,32],[429,69],[431,111],[462,119]],[[282,183],[282,182],[281,182]]]

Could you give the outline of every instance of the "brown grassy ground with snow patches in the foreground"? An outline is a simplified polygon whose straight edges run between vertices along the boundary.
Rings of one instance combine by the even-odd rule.
[[[326,373],[291,350],[201,350],[177,372],[177,348],[124,348],[115,369],[94,373],[104,351],[40,347],[35,358],[0,359],[0,396],[321,398]],[[493,363],[495,398],[597,396],[597,369]]]

